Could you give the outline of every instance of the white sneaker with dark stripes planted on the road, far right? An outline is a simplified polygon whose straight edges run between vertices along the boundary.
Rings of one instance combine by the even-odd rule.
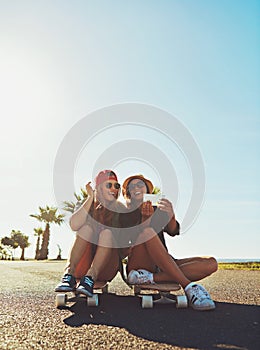
[[[190,283],[185,288],[189,304],[194,310],[213,310],[215,303],[209,293],[200,284]]]

